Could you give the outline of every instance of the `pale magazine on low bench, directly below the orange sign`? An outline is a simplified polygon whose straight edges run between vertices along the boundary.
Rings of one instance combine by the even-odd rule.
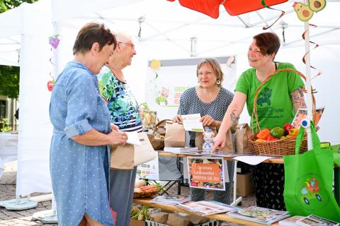
[[[188,201],[186,203],[177,205],[177,207],[198,215],[211,215],[235,210],[234,206],[220,205],[220,203],[217,204],[212,201]]]

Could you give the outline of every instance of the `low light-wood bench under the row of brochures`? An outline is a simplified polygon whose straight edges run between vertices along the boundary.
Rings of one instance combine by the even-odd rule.
[[[186,210],[183,210],[183,209],[178,208],[178,207],[173,206],[173,205],[151,203],[150,202],[151,200],[152,200],[152,198],[134,198],[133,202],[144,205],[144,206],[161,208],[162,210],[168,210],[168,211],[172,211],[172,212],[181,212],[181,213],[188,213],[188,214],[196,215],[195,213],[188,212]],[[222,221],[232,222],[232,223],[239,224],[239,225],[263,226],[263,224],[259,224],[259,223],[256,223],[256,222],[251,222],[251,221],[248,221],[248,220],[241,220],[241,219],[229,217],[229,215],[227,215],[226,213],[205,215],[204,217],[209,218],[209,219],[214,219],[214,220],[222,220]],[[274,223],[272,225],[278,226],[278,223]]]

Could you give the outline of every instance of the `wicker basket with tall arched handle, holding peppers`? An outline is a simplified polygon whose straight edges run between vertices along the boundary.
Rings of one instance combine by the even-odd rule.
[[[254,108],[253,108],[253,114],[251,118],[256,119],[256,126],[258,131],[260,131],[260,126],[259,126],[259,119],[257,116],[257,109],[256,109],[256,102],[257,98],[259,97],[259,91],[261,87],[263,86],[266,81],[269,80],[272,76],[274,76],[276,73],[280,71],[293,71],[297,73],[299,76],[302,78],[306,79],[305,76],[300,73],[300,71],[296,71],[293,69],[279,69],[274,71],[266,80],[264,80],[261,85],[259,85],[259,88],[257,88],[254,96]],[[312,101],[313,101],[313,115],[315,116],[315,98],[314,95],[312,94]],[[253,128],[254,131],[254,128]],[[282,155],[294,155],[295,154],[295,143],[296,143],[296,137],[291,137],[283,140],[278,140],[278,141],[263,141],[263,142],[256,142],[256,134],[252,135],[249,137],[249,143],[254,148],[254,154],[255,155],[269,155],[269,156],[282,156]],[[300,153],[304,153],[307,151],[307,136],[306,133],[303,136],[301,147],[300,147]]]

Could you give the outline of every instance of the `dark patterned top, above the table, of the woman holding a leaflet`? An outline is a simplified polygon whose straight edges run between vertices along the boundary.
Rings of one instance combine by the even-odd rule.
[[[177,114],[198,114],[203,117],[210,115],[212,119],[222,121],[225,112],[232,102],[234,94],[225,88],[221,88],[215,100],[210,103],[204,103],[198,98],[195,87],[188,88],[181,95],[179,102],[179,111]],[[191,139],[195,139],[196,133],[189,132]]]

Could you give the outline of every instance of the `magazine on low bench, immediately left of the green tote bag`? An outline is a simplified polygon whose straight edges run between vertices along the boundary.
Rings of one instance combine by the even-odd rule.
[[[261,208],[258,206],[249,206],[247,208],[227,214],[232,218],[249,220],[264,225],[271,225],[273,222],[277,222],[284,218],[290,217],[288,211],[273,210],[268,208]]]

